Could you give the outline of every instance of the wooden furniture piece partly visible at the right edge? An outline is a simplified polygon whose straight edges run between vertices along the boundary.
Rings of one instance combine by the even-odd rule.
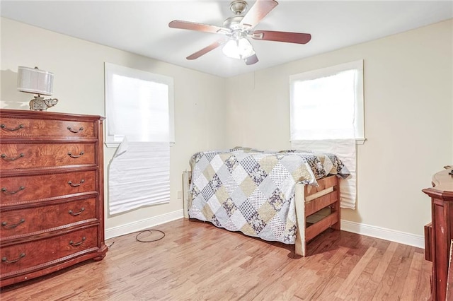
[[[437,172],[432,187],[423,189],[431,198],[431,225],[425,229],[427,259],[432,260],[432,300],[445,300],[450,244],[453,238],[453,167]]]

